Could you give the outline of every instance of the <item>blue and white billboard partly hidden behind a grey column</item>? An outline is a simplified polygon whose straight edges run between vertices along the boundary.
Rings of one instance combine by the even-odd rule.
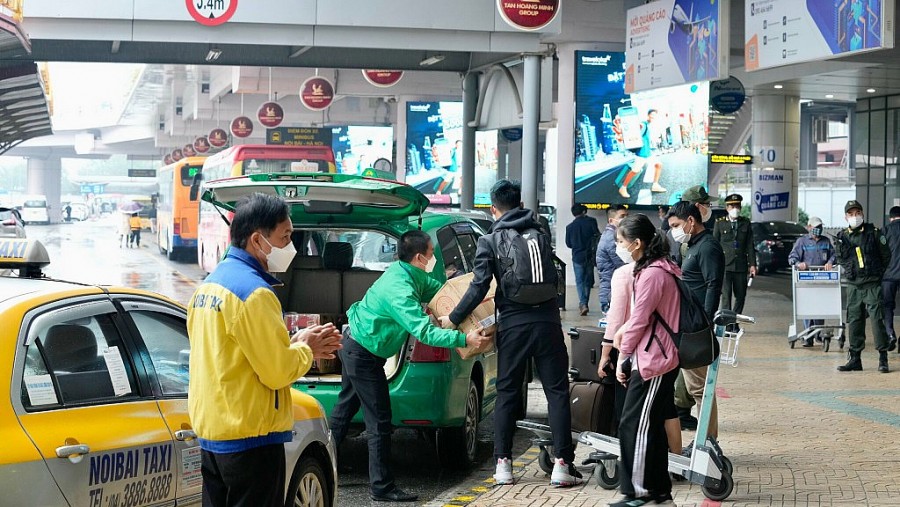
[[[459,204],[462,184],[462,102],[409,102],[406,183],[434,205]],[[475,202],[497,181],[498,131],[475,133]]]

